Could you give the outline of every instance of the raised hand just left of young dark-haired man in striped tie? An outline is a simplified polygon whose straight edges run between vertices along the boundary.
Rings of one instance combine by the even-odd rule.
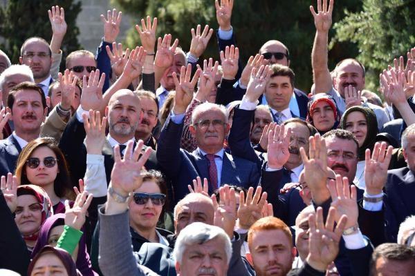
[[[256,102],[259,97],[261,97],[265,91],[266,83],[268,83],[271,74],[272,71],[268,65],[261,65],[259,70],[255,67],[252,68],[250,81],[248,83],[248,87],[246,88],[245,94],[245,97],[247,97],[250,102]]]

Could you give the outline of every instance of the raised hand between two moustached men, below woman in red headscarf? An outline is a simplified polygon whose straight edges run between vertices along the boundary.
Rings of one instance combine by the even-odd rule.
[[[308,157],[304,148],[299,148],[299,153],[304,164],[304,181],[313,190],[326,189],[327,178],[327,150],[326,142],[316,134],[308,139],[310,147]],[[314,195],[313,195],[314,196]],[[313,197],[314,198],[314,197]]]

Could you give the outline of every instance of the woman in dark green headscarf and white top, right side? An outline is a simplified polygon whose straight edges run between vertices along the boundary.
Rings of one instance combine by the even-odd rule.
[[[359,144],[358,167],[353,183],[358,188],[365,189],[365,151],[367,148],[373,152],[378,134],[378,121],[371,108],[352,106],[342,115],[340,128],[349,130],[356,136]]]

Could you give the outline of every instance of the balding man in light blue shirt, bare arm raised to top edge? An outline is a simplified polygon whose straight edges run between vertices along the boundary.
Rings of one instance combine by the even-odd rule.
[[[365,66],[356,59],[343,59],[335,66],[334,78],[331,77],[328,67],[327,41],[332,23],[333,4],[327,5],[327,0],[323,0],[321,4],[326,10],[323,10],[321,6],[317,7],[317,13],[314,8],[311,10],[316,28],[311,54],[315,93],[327,93],[333,96],[340,114],[351,106],[363,105],[373,109],[378,120],[378,128],[381,130],[383,124],[389,121],[385,110],[367,101],[361,101],[358,96],[358,91],[365,88]]]

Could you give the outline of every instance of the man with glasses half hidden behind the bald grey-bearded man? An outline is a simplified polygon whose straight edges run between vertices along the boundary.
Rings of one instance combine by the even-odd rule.
[[[136,129],[136,139],[144,141],[145,146],[156,150],[157,141],[152,131],[157,125],[158,101],[156,95],[149,91],[138,91],[137,96],[140,99],[142,119]]]

